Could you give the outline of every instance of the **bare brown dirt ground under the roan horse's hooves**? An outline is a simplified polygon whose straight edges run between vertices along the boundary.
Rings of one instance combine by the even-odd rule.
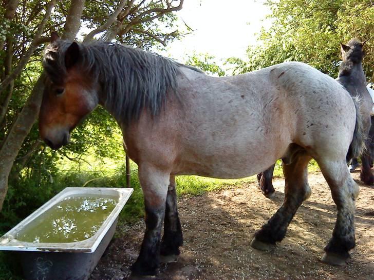
[[[359,173],[353,173],[359,179]],[[357,181],[359,183],[359,181]],[[161,265],[157,279],[374,279],[374,187],[360,184],[356,242],[345,267],[320,262],[332,234],[336,208],[320,172],[309,174],[311,197],[291,222],[285,239],[273,251],[250,246],[253,234],[282,204],[284,180],[275,179],[275,198],[256,184],[231,187],[179,199],[184,245],[178,262]],[[116,238],[91,279],[126,279],[138,256],[144,223]]]

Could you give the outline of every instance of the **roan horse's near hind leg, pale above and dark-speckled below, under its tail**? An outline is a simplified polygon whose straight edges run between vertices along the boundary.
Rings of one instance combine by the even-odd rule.
[[[359,194],[359,187],[350,176],[345,160],[317,162],[330,186],[332,199],[338,209],[332,238],[325,247],[322,262],[344,265],[349,259],[348,251],[355,246],[354,201]]]

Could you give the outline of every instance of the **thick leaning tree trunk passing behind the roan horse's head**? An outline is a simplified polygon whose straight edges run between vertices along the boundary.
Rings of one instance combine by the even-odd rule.
[[[84,2],[84,0],[73,0],[71,2],[63,38],[73,40],[76,37],[80,28]],[[44,91],[44,79],[45,75],[42,73],[38,82],[33,87],[25,106],[9,130],[5,143],[0,150],[0,211],[3,208],[4,199],[8,191],[8,178],[14,159],[35,123],[36,118],[38,118]]]

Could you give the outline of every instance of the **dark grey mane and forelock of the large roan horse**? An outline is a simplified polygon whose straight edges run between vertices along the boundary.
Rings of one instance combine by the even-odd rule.
[[[58,40],[45,51],[43,66],[55,84],[64,83],[65,51],[70,44]],[[181,67],[200,72],[156,53],[116,43],[99,41],[79,46],[78,63],[82,73],[99,83],[103,103],[126,124],[137,119],[143,108],[157,115],[166,102],[166,95],[178,94],[176,79]]]

